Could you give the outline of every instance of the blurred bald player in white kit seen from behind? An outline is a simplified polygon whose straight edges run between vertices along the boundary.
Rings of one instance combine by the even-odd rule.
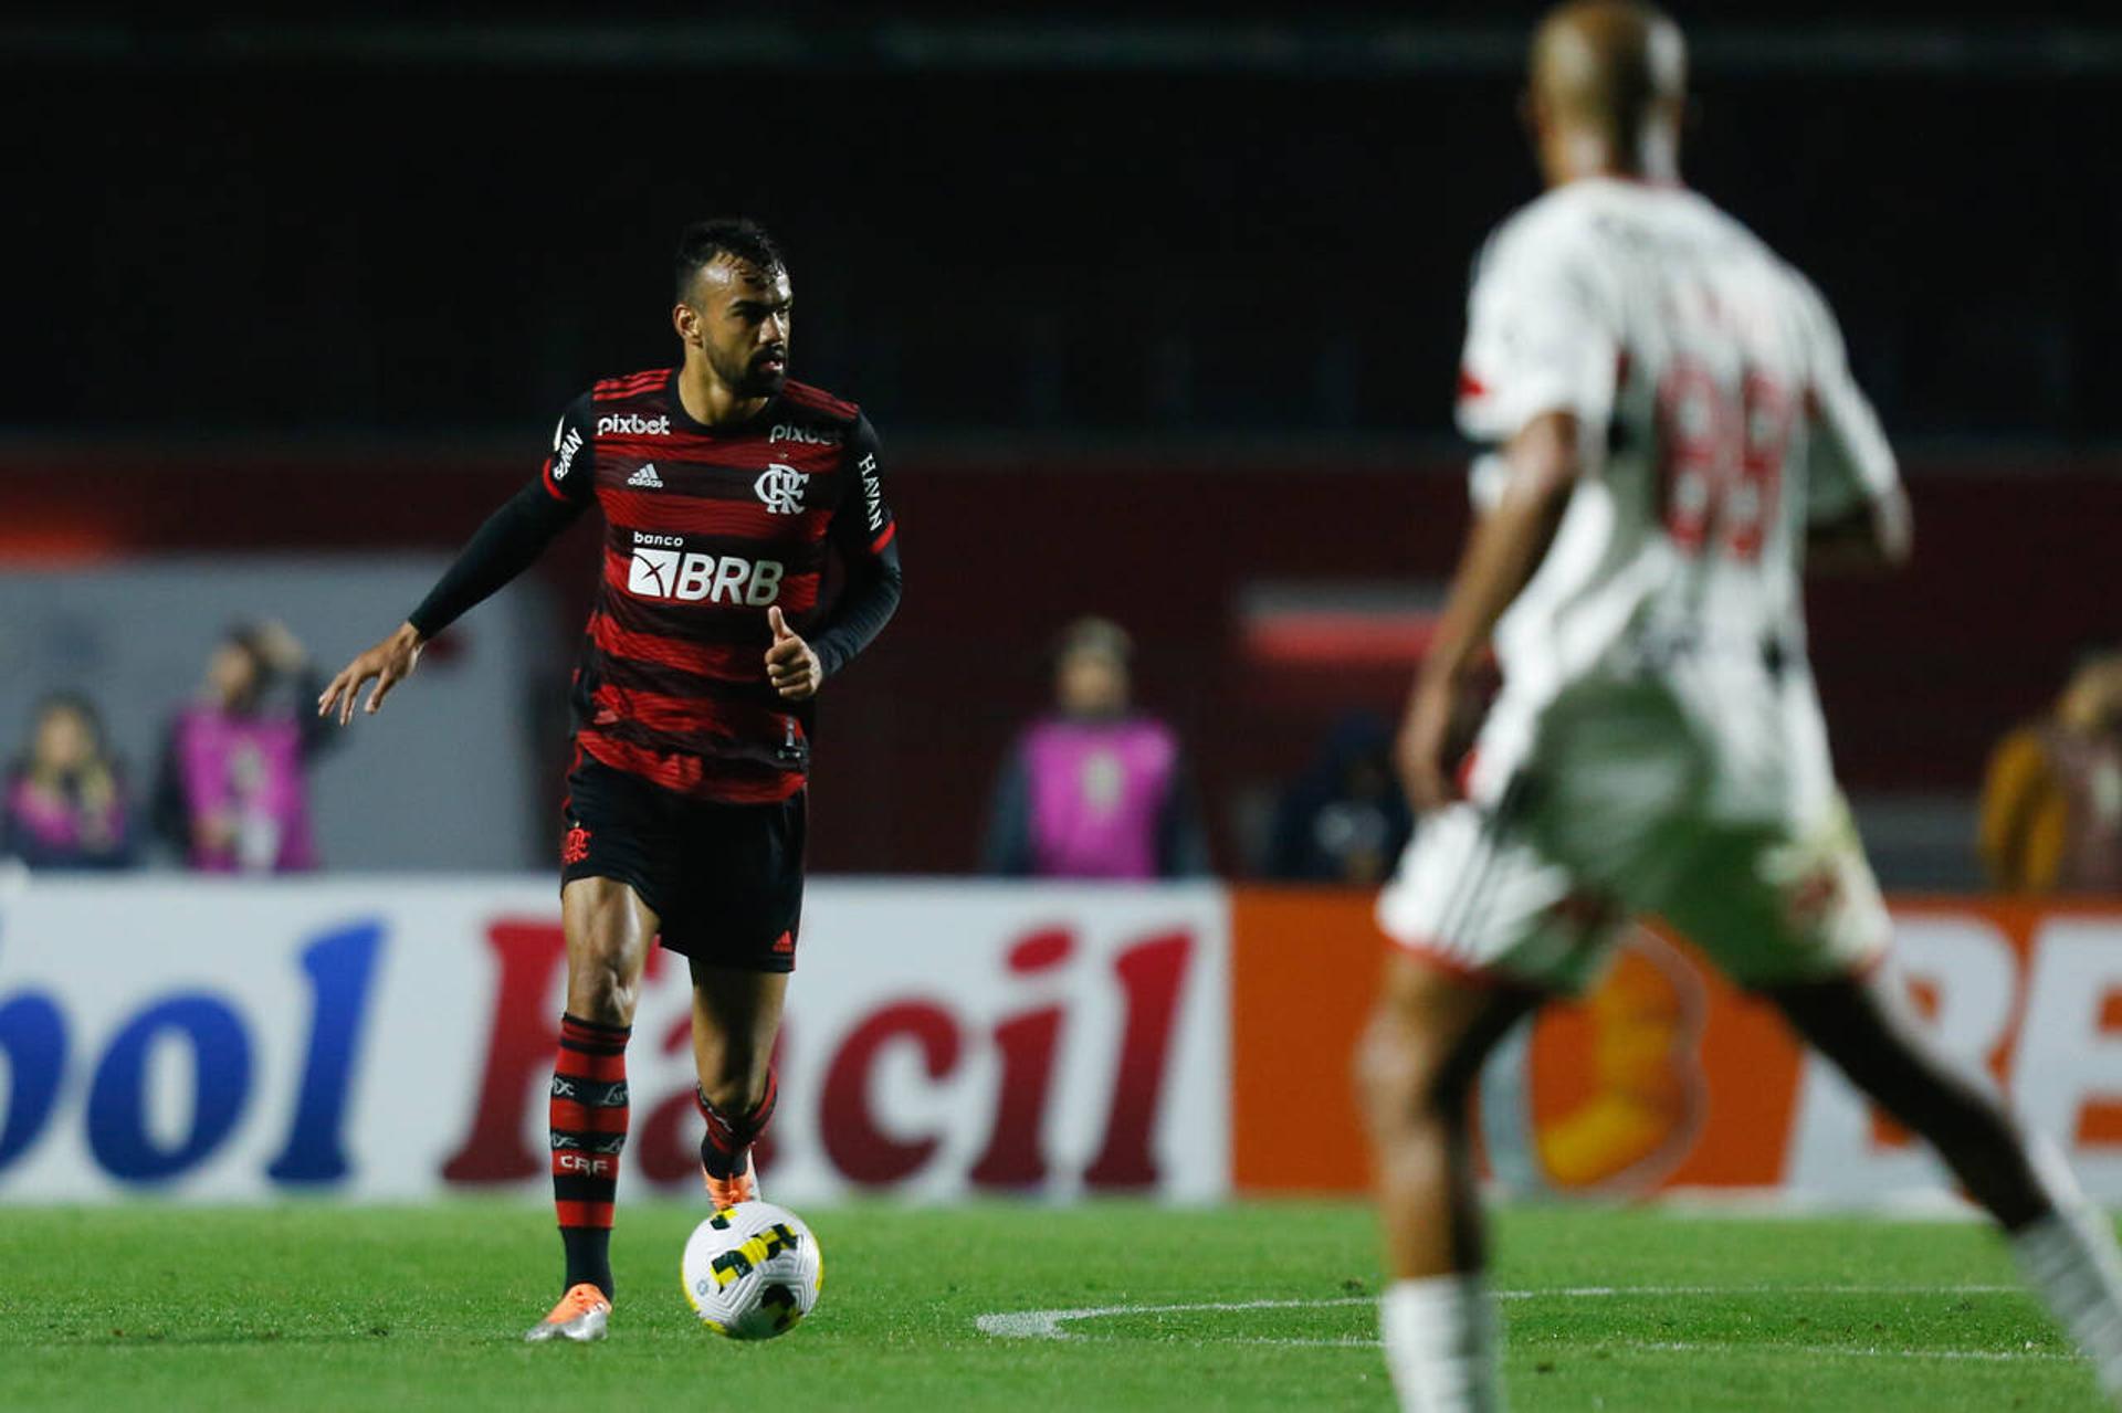
[[[2111,1228],[1878,976],[1802,571],[1901,562],[1908,503],[1821,295],[1679,182],[1685,68],[1647,4],[1553,11],[1526,102],[1549,191],[1475,272],[1458,416],[1496,452],[1401,738],[1424,819],[1379,900],[1398,946],[1358,1057],[1394,1385],[1422,1413],[1502,1407],[1466,1095],[1657,912],[1937,1148],[2116,1394]],[[1502,692],[1454,779],[1488,643]]]

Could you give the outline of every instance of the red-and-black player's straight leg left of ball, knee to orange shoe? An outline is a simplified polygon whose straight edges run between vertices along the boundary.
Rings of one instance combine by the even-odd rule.
[[[611,1311],[611,1201],[626,1146],[626,1040],[658,919],[615,878],[560,889],[567,1012],[552,1071],[552,1197],[567,1250],[560,1303],[526,1339],[603,1339]]]

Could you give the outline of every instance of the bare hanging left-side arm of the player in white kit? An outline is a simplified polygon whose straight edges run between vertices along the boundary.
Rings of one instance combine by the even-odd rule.
[[[1536,416],[1504,448],[1504,467],[1500,496],[1475,520],[1466,539],[1407,702],[1398,740],[1401,781],[1417,810],[1434,810],[1454,796],[1445,766],[1454,702],[1496,620],[1532,579],[1562,524],[1581,469],[1577,414]]]

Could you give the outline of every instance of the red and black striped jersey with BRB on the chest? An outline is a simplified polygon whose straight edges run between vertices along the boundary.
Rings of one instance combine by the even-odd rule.
[[[874,560],[898,533],[862,409],[789,382],[749,422],[707,426],[685,414],[677,369],[607,378],[562,414],[541,482],[605,511],[573,685],[579,749],[694,798],[802,789],[811,702],[766,679],[766,609],[813,639],[828,675],[840,666],[845,649],[811,632],[828,545]]]

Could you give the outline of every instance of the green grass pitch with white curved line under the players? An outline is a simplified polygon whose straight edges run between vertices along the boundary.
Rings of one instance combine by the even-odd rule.
[[[821,1207],[823,1301],[764,1345],[685,1307],[702,1216],[622,1207],[611,1339],[530,1347],[535,1207],[0,1209],[0,1407],[1390,1409],[1360,1205]],[[2101,1407],[1971,1224],[1507,1211],[1496,1288],[1519,1411]]]

